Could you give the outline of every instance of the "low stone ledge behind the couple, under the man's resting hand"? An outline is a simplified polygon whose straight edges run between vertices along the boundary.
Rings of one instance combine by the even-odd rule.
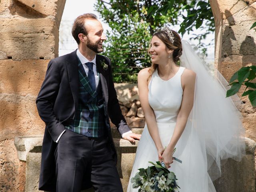
[[[134,130],[141,131],[143,129]],[[43,135],[19,136],[14,139],[14,144],[18,151],[18,158],[22,161],[26,161],[25,192],[40,192],[37,188],[40,172],[42,140]],[[136,140],[136,142],[131,143],[121,138],[113,138],[113,140],[118,154],[118,174],[123,189],[126,191],[139,141]],[[246,156],[241,162],[228,159],[227,163],[222,165],[222,177],[214,181],[214,186],[218,192],[252,192],[255,190],[254,150],[256,148],[256,143],[249,138],[245,138],[245,143]],[[240,182],[236,182],[237,180]],[[227,185],[227,183],[229,183],[229,185]],[[94,192],[94,190],[90,188],[82,192]]]

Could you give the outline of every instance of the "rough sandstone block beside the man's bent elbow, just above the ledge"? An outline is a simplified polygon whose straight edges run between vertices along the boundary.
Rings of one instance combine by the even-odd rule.
[[[30,95],[0,94],[0,140],[13,139],[17,134],[44,132],[44,122],[38,116],[35,99]]]

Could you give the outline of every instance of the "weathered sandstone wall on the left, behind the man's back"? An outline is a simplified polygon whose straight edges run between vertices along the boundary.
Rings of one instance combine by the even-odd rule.
[[[17,135],[43,134],[35,99],[50,59],[66,0],[0,0],[0,192],[23,192],[26,163]]]

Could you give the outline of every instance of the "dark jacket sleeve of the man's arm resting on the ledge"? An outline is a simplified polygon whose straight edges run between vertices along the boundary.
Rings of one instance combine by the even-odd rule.
[[[126,120],[122,115],[122,110],[120,109],[120,105],[116,95],[116,90],[114,87],[112,69],[111,69],[109,58],[108,58],[108,61],[109,61],[108,114],[111,122],[116,126],[116,128],[118,129],[118,132],[122,135],[123,133],[128,132],[131,129],[127,125]]]

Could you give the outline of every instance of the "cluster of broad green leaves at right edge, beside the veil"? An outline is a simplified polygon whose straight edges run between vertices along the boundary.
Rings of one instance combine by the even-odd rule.
[[[232,96],[236,94],[242,85],[246,86],[242,96],[247,96],[253,107],[256,106],[256,83],[251,81],[256,78],[256,66],[242,67],[240,70],[234,73],[230,79],[230,90],[227,91],[226,96]],[[247,90],[250,88],[250,90]],[[247,91],[246,91],[247,90]]]

